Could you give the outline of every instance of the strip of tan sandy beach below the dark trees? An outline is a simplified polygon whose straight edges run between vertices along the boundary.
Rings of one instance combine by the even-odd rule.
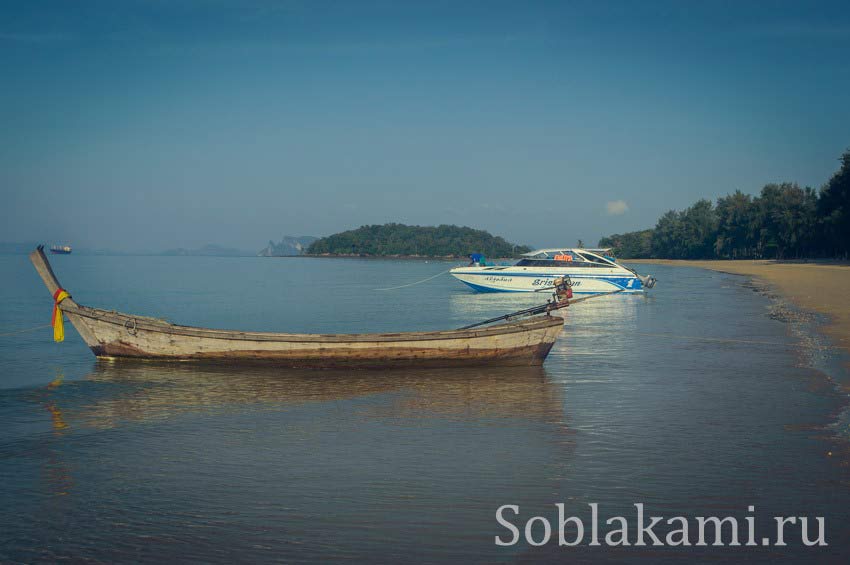
[[[625,262],[698,267],[760,279],[803,310],[827,315],[829,322],[823,328],[824,333],[850,353],[850,264],[671,259]]]

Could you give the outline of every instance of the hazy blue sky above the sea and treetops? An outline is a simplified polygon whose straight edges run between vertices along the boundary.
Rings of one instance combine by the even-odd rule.
[[[595,243],[850,147],[842,2],[2,2],[0,72],[5,241]]]

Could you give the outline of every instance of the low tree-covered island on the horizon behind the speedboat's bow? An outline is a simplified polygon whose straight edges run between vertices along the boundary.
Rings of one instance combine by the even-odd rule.
[[[483,253],[487,257],[512,257],[527,253],[525,245],[515,245],[484,230],[464,226],[407,226],[384,224],[361,226],[313,242],[307,255],[365,257],[466,257]]]

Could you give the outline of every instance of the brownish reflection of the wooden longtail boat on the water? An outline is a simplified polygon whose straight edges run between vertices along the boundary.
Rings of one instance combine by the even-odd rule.
[[[85,381],[117,385],[73,397],[61,407],[69,425],[111,428],[122,421],[157,420],[187,412],[234,408],[286,409],[308,403],[382,396],[364,403],[367,418],[531,418],[560,422],[560,389],[541,367],[381,370],[317,373],[264,366],[234,370],[175,363],[99,361]],[[383,395],[393,395],[387,399]],[[62,403],[53,399],[54,405]]]

